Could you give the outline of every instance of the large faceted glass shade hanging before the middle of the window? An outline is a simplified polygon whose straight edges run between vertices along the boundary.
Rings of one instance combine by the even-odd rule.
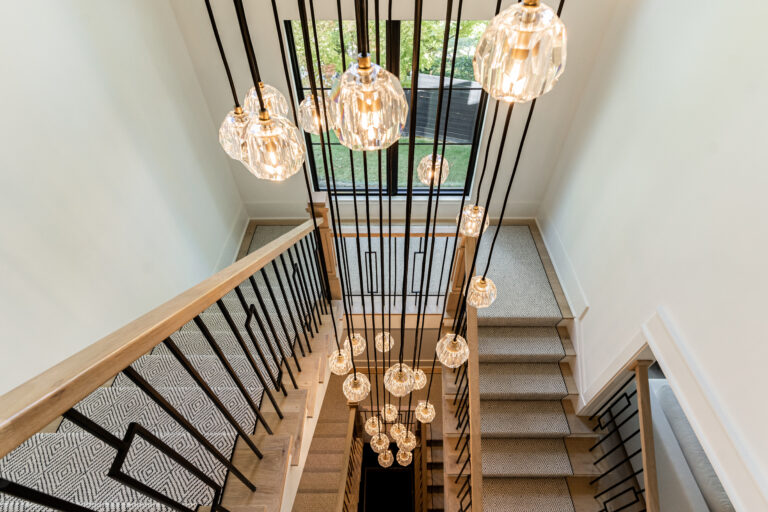
[[[408,116],[400,80],[368,62],[362,58],[353,64],[331,91],[331,126],[339,142],[353,151],[388,148],[400,138]]]

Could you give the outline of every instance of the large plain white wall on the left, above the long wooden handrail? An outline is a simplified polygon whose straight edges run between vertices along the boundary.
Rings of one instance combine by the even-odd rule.
[[[168,2],[6,2],[0,65],[2,393],[230,263],[245,215]]]

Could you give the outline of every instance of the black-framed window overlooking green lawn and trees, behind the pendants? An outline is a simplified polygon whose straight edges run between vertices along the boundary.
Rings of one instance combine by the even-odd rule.
[[[455,22],[452,22],[451,39],[448,42],[448,58],[446,62],[445,91],[443,94],[443,109],[440,120],[440,145],[442,150],[443,126],[445,115],[450,109],[450,118],[446,130],[445,158],[450,165],[448,179],[441,187],[441,194],[459,195],[469,191],[472,172],[477,158],[477,142],[480,133],[480,123],[485,111],[485,95],[480,84],[473,80],[472,55],[477,41],[485,30],[486,21],[463,21],[459,35],[456,70],[454,73],[453,94],[448,105],[448,77],[450,76],[451,53],[453,51],[453,34]],[[354,62],[357,55],[357,36],[354,21],[344,21],[342,51],[339,25],[337,21],[323,20],[317,22],[318,45],[322,63],[323,85],[330,90],[332,83]],[[438,89],[440,85],[440,59],[443,47],[444,21],[423,21],[421,37],[421,55],[419,58],[419,99],[414,141],[414,165],[426,155],[432,153],[435,136],[435,116],[437,111]],[[301,22],[286,22],[286,34],[294,79],[301,84],[298,91],[299,101],[311,94],[306,67],[304,41],[301,34]],[[400,77],[406,98],[410,104],[411,95],[411,65],[413,41],[412,21],[382,21],[380,24],[381,58],[376,58],[376,34],[373,22],[369,25],[371,56],[374,62],[387,67]],[[310,37],[312,33],[310,32]],[[312,40],[314,45],[314,39]],[[389,50],[389,51],[388,51]],[[313,48],[314,53],[314,48]],[[397,60],[387,63],[387,56],[395,55]],[[314,67],[317,68],[316,60]],[[315,70],[317,71],[317,70]],[[319,81],[316,82],[320,87]],[[379,173],[383,181],[383,192],[387,195],[405,194],[408,179],[408,143],[410,115],[406,122],[404,133],[400,140],[387,151],[368,152],[368,192],[378,194]],[[323,166],[322,146],[317,135],[307,136],[307,145],[312,150],[308,160],[314,176],[315,188],[326,190],[325,168]],[[329,134],[331,142],[332,163],[336,176],[336,188],[341,193],[351,193],[354,185],[358,193],[362,192],[364,181],[362,152],[349,151],[342,146],[333,133]],[[327,156],[327,150],[326,150]],[[329,162],[330,164],[330,162]],[[379,167],[381,166],[381,168]],[[388,172],[391,169],[392,172]],[[353,174],[354,170],[354,174]],[[415,174],[415,173],[414,173]],[[427,194],[429,187],[422,184],[414,176],[413,189],[415,194]]]

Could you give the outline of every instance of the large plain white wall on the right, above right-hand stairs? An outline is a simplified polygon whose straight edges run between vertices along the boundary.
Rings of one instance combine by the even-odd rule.
[[[584,400],[649,342],[749,511],[768,510],[766,16],[617,2],[539,212]]]

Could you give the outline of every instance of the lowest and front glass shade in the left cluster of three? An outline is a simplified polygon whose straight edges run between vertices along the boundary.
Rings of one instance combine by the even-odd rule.
[[[254,118],[245,134],[248,161],[253,175],[283,181],[296,174],[304,163],[301,133],[284,117]]]

